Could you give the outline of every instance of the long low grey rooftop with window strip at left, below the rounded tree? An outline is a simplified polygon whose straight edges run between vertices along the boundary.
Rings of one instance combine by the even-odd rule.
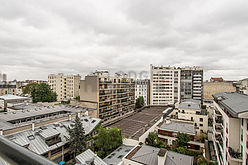
[[[67,114],[70,113],[73,114],[93,110],[91,108],[75,107],[62,104],[55,106],[43,106],[31,103],[15,105],[9,109],[12,110],[9,112],[0,113],[0,129],[5,130],[28,123],[30,124],[30,122],[39,122],[41,120],[44,121],[67,116]],[[42,116],[45,116],[45,118],[42,118]]]

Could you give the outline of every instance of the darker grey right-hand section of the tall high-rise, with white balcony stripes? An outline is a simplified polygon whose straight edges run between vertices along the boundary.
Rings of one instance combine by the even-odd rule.
[[[181,100],[203,100],[203,69],[201,67],[181,68]]]

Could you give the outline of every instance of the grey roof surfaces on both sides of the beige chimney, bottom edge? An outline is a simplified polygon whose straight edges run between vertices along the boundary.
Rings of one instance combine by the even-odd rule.
[[[158,164],[158,154],[160,152],[159,148],[142,145],[137,146],[130,153],[130,160],[139,162],[142,164],[157,165]],[[127,156],[128,157],[128,156]],[[192,156],[187,156],[179,154],[176,152],[166,151],[165,165],[193,165],[194,158]]]

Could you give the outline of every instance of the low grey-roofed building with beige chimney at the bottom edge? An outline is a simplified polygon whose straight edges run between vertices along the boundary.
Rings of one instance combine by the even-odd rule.
[[[124,158],[123,165],[193,165],[194,157],[147,145],[136,146]]]

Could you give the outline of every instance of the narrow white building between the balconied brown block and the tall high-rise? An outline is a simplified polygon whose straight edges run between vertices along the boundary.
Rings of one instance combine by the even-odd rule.
[[[150,80],[136,80],[135,81],[135,99],[142,96],[144,104],[150,104]]]

